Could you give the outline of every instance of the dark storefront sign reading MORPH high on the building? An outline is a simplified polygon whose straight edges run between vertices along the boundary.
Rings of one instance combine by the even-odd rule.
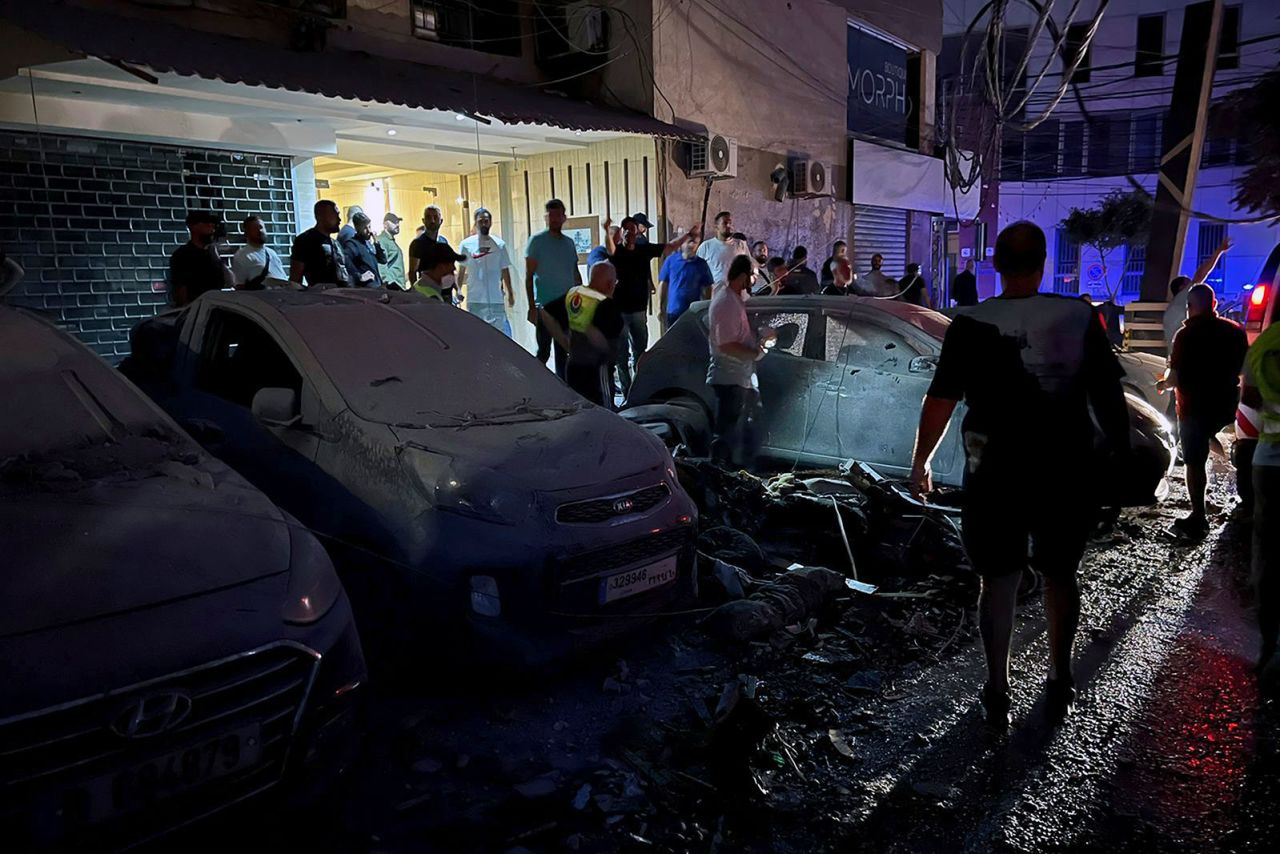
[[[849,129],[908,143],[915,99],[914,54],[865,29],[849,27]]]

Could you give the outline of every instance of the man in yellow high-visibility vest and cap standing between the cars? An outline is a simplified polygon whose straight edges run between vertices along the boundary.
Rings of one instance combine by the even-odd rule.
[[[588,284],[543,305],[545,325],[568,352],[564,382],[596,406],[613,407],[609,375],[622,337],[622,312],[613,300],[618,271],[609,261],[591,266]]]

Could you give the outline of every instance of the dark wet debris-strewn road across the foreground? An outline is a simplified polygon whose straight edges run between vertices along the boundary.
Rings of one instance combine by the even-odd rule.
[[[1212,498],[1229,508],[1225,487],[1220,478]],[[278,830],[260,841],[379,851],[1272,850],[1280,714],[1266,699],[1276,689],[1260,690],[1252,671],[1248,528],[1221,515],[1203,543],[1178,543],[1166,529],[1184,511],[1175,494],[1128,512],[1092,548],[1080,699],[1056,729],[1042,718],[1036,597],[1020,607],[1004,736],[978,717],[984,667],[972,609],[945,654],[886,668],[869,694],[835,697],[805,681],[797,650],[708,649],[687,626],[655,629],[621,667],[611,653],[520,681],[480,675],[484,689],[436,681],[419,695],[378,695],[365,754],[334,798],[271,813]],[[762,703],[796,754],[769,773],[764,796],[717,791],[680,746],[712,729],[707,709],[744,670],[790,695]],[[833,723],[854,755],[831,749]],[[243,839],[257,821],[252,810],[228,817],[201,839]]]

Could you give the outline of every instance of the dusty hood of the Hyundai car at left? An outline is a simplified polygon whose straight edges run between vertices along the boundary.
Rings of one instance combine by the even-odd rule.
[[[287,519],[262,493],[157,439],[0,467],[0,535],[8,544],[0,638],[289,568]]]

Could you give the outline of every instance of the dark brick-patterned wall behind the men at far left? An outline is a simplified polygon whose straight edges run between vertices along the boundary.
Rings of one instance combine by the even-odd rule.
[[[296,230],[288,157],[0,132],[0,246],[27,270],[6,301],[46,312],[104,357],[165,305],[189,209],[232,241],[260,214],[283,255]]]

